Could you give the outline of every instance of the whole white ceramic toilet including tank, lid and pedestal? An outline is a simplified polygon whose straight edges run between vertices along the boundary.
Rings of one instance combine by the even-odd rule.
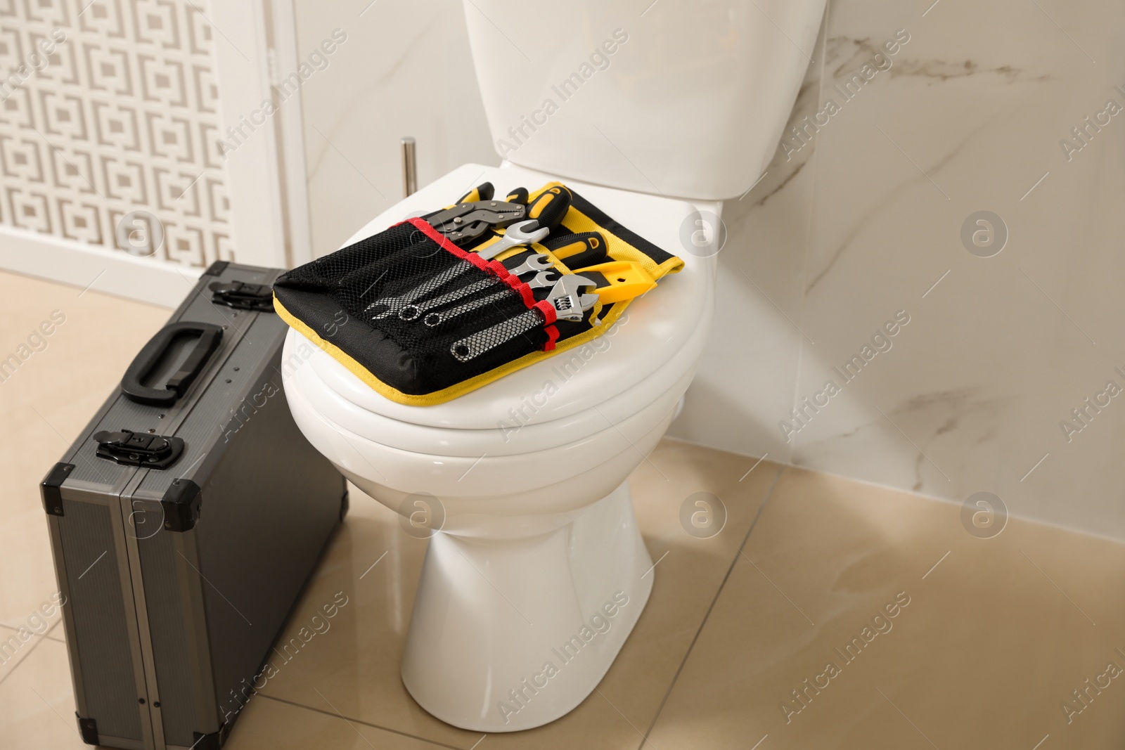
[[[657,571],[633,517],[645,498],[626,480],[672,422],[708,336],[710,215],[770,162],[825,0],[647,3],[467,0],[505,161],[453,170],[345,244],[484,181],[503,196],[561,180],[680,255],[680,273],[601,338],[438,406],[390,401],[297,332],[286,342],[286,395],[313,445],[379,503],[442,519],[402,678],[464,729],[564,715],[645,608]]]

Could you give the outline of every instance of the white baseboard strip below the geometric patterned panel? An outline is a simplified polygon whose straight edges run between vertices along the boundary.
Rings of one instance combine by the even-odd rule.
[[[0,269],[174,308],[202,269],[0,226]]]

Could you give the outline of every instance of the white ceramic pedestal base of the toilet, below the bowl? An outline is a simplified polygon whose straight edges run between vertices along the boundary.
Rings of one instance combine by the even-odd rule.
[[[438,533],[418,581],[403,684],[438,719],[477,732],[531,729],[593,692],[656,575],[628,484],[531,539]]]

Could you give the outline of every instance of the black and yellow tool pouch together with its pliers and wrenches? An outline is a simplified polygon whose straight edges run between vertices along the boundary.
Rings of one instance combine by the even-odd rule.
[[[681,264],[560,183],[505,200],[485,183],[289,271],[274,308],[380,394],[428,405],[588,341]]]

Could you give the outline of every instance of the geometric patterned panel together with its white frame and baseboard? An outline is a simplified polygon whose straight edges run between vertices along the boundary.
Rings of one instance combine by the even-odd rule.
[[[227,129],[271,96],[269,6],[0,3],[0,268],[174,307],[216,260],[294,257],[280,118]]]

